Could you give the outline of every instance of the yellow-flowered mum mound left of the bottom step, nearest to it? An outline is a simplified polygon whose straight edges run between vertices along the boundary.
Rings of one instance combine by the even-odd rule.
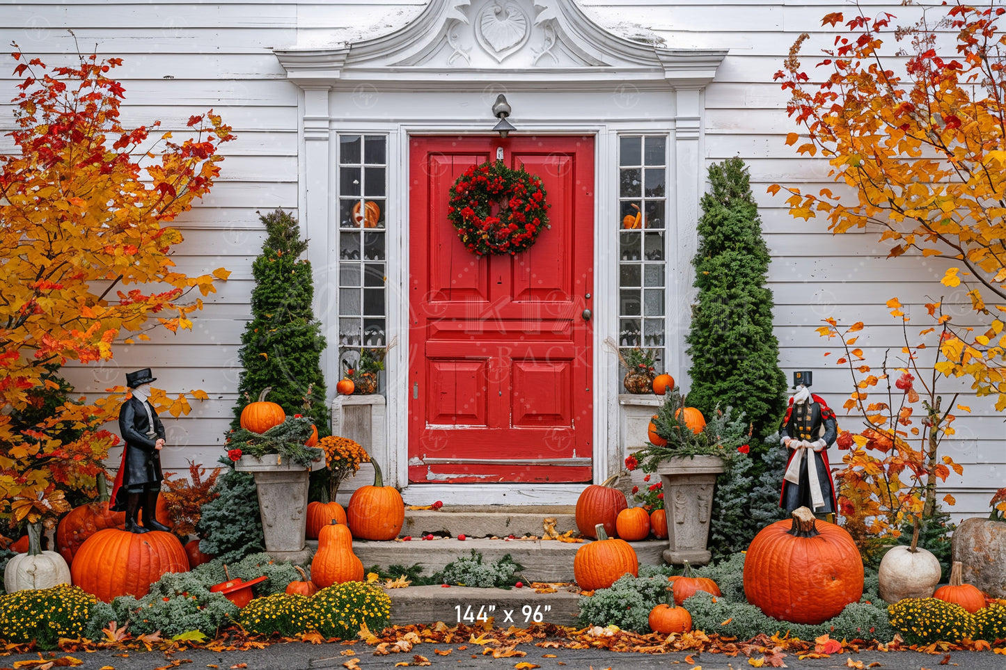
[[[349,640],[363,624],[374,633],[384,630],[391,599],[380,587],[347,581],[322,589],[307,601],[308,630],[326,638]]]

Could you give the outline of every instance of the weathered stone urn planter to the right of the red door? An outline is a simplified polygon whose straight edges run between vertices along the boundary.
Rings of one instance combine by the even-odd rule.
[[[716,476],[724,470],[718,456],[674,457],[661,461],[657,474],[664,485],[667,541],[664,561],[704,565],[712,559],[706,547]]]

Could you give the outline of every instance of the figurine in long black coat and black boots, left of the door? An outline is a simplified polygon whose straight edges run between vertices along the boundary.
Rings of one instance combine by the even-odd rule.
[[[132,394],[119,409],[119,432],[126,443],[123,461],[112,489],[112,509],[126,512],[126,530],[146,533],[171,530],[157,521],[157,496],[161,491],[161,450],[164,425],[149,400],[150,382],[156,381],[150,368],[129,372],[126,385]],[[143,510],[143,526],[137,513]]]

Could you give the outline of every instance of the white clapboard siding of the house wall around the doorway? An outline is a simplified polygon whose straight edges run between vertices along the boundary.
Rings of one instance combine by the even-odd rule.
[[[185,136],[189,117],[212,108],[237,136],[221,148],[225,160],[212,192],[174,223],[185,236],[175,250],[178,269],[203,274],[224,267],[231,271],[230,280],[201,298],[205,307],[192,315],[191,331],[155,331],[149,342],[117,348],[112,361],[66,366],[66,375],[81,393],[102,393],[122,383],[127,370],[148,365],[157,369],[158,385],[169,392],[206,390],[210,399],[193,402],[188,416],[165,420],[173,439],[164,455],[169,469],[184,474],[188,459],[212,466],[222,453],[222,435],[235,399],[240,337],[250,318],[252,262],[265,237],[259,212],[281,207],[296,214],[301,204],[299,90],[286,80],[272,49],[332,46],[388,34],[424,5],[424,0],[36,0],[7,3],[0,10],[4,43],[14,40],[25,53],[50,65],[72,60],[76,47],[67,28],[74,31],[81,49],[97,44],[101,54],[124,58],[114,73],[127,92],[122,108],[127,127],[160,120],[160,130],[171,131],[177,139]],[[668,47],[728,49],[705,91],[700,155],[706,165],[732,156],[748,165],[773,255],[769,281],[775,296],[775,332],[782,347],[780,364],[788,376],[795,369],[813,369],[814,390],[841,407],[852,386],[848,371],[834,364],[841,355],[840,343],[820,337],[815,329],[828,317],[844,326],[862,321],[866,328],[858,333],[856,346],[879,368],[884,351],[889,349],[894,357],[902,344],[900,326],[885,305],[894,296],[911,317],[907,332],[912,342],[930,325],[925,305],[935,300],[944,301],[955,323],[974,322],[964,291],[939,284],[949,261],[913,254],[886,259],[892,243],[878,241],[875,233],[833,235],[826,216],[795,219],[785,191],[767,192],[780,184],[803,192],[829,188],[843,197],[852,194],[844,184],[834,183],[827,160],[798,155],[796,147],[786,145],[787,134],[800,129],[787,117],[789,96],[773,74],[782,68],[797,37],[807,32],[802,68],[812,79],[824,76],[826,72],[814,65],[823,57],[820,49],[831,46],[833,31],[821,26],[821,17],[834,11],[851,14],[853,6],[833,0],[579,0],[579,5],[618,34],[651,35]],[[892,1],[863,0],[859,5],[867,16],[889,11],[900,25],[913,21],[919,11]],[[896,48],[889,40],[883,50],[893,53]],[[8,101],[18,81],[11,69],[0,68],[0,136],[15,127]],[[391,119],[388,115],[407,109],[408,96],[413,95],[425,94],[382,99],[387,109],[381,118]],[[577,94],[564,102],[598,104]],[[647,114],[634,113],[640,119]],[[561,104],[554,114],[562,118]],[[616,117],[602,111],[600,118]],[[10,139],[0,137],[0,152],[11,148]],[[399,290],[388,287],[392,294]],[[322,296],[320,302],[326,307],[319,318],[331,319],[334,300]],[[686,330],[688,316],[668,315],[668,327]],[[829,351],[831,355],[824,356]],[[334,385],[334,380],[328,382]],[[945,401],[961,391],[958,401],[973,409],[971,415],[958,412],[958,434],[943,448],[965,465],[965,476],[959,480],[955,475],[941,489],[958,500],[950,508],[955,518],[984,514],[991,490],[1006,479],[1006,425],[987,398],[974,397],[967,379],[941,380],[940,389]],[[839,410],[840,425],[855,426],[857,421]],[[343,485],[340,500],[345,502],[353,488],[371,478],[365,466]]]

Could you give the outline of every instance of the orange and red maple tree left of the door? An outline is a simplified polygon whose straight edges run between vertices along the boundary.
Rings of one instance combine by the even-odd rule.
[[[48,67],[14,44],[17,153],[0,156],[0,518],[54,522],[64,488],[90,488],[116,440],[97,428],[117,415],[121,393],[65,402],[19,430],[11,414],[52,388],[43,375],[73,360],[113,357],[145,331],[191,328],[189,315],[227,271],[176,272],[181,233],[166,225],[209,192],[219,146],[233,139],[212,111],[189,119],[180,143],[160,122],[126,128],[124,89],[109,72],[121,58],[77,54]],[[123,387],[109,389],[122,391]],[[205,398],[202,391],[190,395]],[[151,395],[158,409],[187,412],[184,395]],[[63,442],[63,427],[82,431]]]

